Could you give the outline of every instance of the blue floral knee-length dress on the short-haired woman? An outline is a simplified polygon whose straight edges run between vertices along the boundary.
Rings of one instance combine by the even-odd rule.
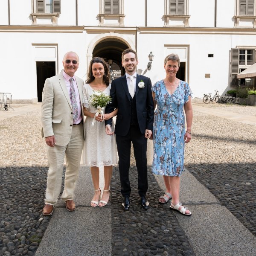
[[[164,81],[156,82],[152,91],[157,109],[154,113],[154,156],[152,172],[157,175],[178,176],[184,171],[185,116],[183,107],[192,91],[189,84],[179,82],[171,95]]]

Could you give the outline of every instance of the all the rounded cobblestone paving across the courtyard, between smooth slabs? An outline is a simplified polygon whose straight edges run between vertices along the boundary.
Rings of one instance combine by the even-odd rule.
[[[218,104],[201,106],[256,115],[254,107]],[[254,235],[255,138],[255,126],[195,111],[192,141],[186,145],[185,156],[189,172]],[[41,214],[47,178],[47,156],[44,140],[41,139],[40,111],[1,121],[0,141],[0,256],[34,255],[50,219],[42,218]],[[135,187],[131,195],[132,209],[121,212],[116,207],[121,198],[117,195],[118,172],[114,173],[111,182],[112,231],[113,237],[119,240],[112,240],[113,255],[118,255],[121,250],[122,255],[142,255],[142,248],[147,250],[148,255],[194,255],[175,215],[168,211],[168,206],[157,204],[157,198],[162,192],[150,171],[148,197],[151,209],[142,213]],[[131,179],[136,184],[134,167],[131,168]],[[129,227],[125,226],[124,219],[131,221]],[[147,233],[139,233],[140,225],[147,229]],[[125,233],[126,229],[128,231]],[[162,244],[155,243],[157,239]]]

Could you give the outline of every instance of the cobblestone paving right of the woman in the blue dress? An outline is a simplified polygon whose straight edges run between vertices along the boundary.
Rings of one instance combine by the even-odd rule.
[[[207,104],[256,116],[256,107]],[[256,127],[194,112],[186,168],[256,236]]]

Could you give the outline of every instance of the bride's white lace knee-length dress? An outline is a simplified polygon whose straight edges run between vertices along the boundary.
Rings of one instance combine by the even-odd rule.
[[[109,85],[104,93],[109,95],[111,85]],[[83,106],[89,108],[88,111],[96,113],[97,109],[90,105],[90,95],[93,94],[93,89],[89,84],[83,86]],[[105,109],[104,109],[105,113]],[[93,118],[86,117],[85,119],[85,141],[82,153],[83,164],[87,166],[110,166],[117,163],[116,152],[116,136],[107,135],[105,132],[105,122],[94,122]],[[114,124],[112,122],[114,131]]]

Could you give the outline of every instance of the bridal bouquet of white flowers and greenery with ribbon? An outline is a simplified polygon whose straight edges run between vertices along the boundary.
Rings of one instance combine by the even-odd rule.
[[[101,90],[95,90],[93,91],[93,94],[90,96],[90,105],[92,105],[94,108],[97,109],[97,112],[93,118],[92,126],[94,125],[96,116],[99,116],[101,114],[101,120],[104,119],[104,108],[108,105],[108,103],[111,103],[111,97],[106,95]]]

